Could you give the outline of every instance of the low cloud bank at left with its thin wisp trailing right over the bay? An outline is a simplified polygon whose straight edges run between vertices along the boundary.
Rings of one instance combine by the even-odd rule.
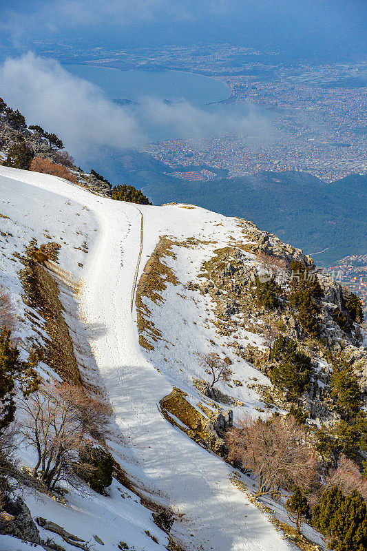
[[[28,124],[56,132],[78,160],[98,145],[143,145],[155,131],[189,140],[221,134],[266,140],[272,134],[269,121],[251,112],[212,113],[186,101],[165,103],[151,97],[134,108],[116,105],[98,86],[32,53],[0,65],[0,96],[19,109]]]

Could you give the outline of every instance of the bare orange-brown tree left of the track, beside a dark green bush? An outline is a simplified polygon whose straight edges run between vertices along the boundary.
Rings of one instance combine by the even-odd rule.
[[[45,385],[22,400],[20,408],[25,416],[19,432],[38,457],[34,477],[49,489],[61,480],[77,488],[74,467],[85,447],[85,433],[106,432],[108,408],[85,397],[83,388],[68,384]]]

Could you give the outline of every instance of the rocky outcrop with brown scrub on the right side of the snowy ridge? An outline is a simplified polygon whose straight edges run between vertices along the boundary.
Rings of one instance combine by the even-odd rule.
[[[299,405],[311,419],[335,422],[337,413],[331,396],[331,371],[326,362],[317,359],[328,354],[341,355],[357,376],[367,403],[367,351],[356,346],[361,330],[357,324],[351,329],[346,325],[346,333],[336,321],[341,320],[342,323],[339,313],[345,315],[342,285],[322,269],[315,269],[313,260],[300,249],[282,243],[271,233],[260,231],[251,222],[240,220],[239,223],[247,241],[216,249],[213,257],[202,264],[200,282],[190,282],[187,287],[210,295],[215,305],[216,332],[232,337],[229,344],[235,352],[262,373],[269,376],[273,368],[269,359],[269,328],[275,335],[284,335],[297,342],[300,351],[313,360],[310,386],[308,392],[300,397]],[[318,306],[317,339],[308,335],[299,313],[289,302],[290,281],[294,276],[290,271],[292,260],[302,262],[308,268],[307,278],[317,278],[322,289],[322,298],[315,299]],[[267,280],[271,273],[279,286],[279,304],[273,309],[262,306],[255,294],[256,278],[262,270],[268,275]],[[262,346],[257,335],[264,337],[260,340]],[[210,390],[199,390],[216,399]],[[289,408],[286,393],[280,399],[284,402],[282,407]],[[280,404],[279,399],[266,401]]]

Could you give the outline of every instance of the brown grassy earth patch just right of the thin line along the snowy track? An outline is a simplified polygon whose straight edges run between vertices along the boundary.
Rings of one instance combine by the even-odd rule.
[[[164,299],[161,293],[167,289],[167,283],[178,284],[174,271],[165,262],[167,257],[176,259],[176,255],[172,251],[173,245],[176,245],[176,242],[167,236],[160,238],[147,264],[145,264],[136,289],[135,304],[138,315],[139,344],[147,350],[154,350],[154,346],[147,337],[157,342],[162,339],[162,333],[156,329],[154,323],[149,319],[151,318],[151,311],[143,299],[147,298],[154,304],[162,303]]]

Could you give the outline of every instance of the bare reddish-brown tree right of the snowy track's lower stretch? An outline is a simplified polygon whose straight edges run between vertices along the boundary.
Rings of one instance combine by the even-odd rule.
[[[256,496],[301,486],[311,488],[319,461],[306,441],[306,430],[294,417],[279,415],[254,421],[249,415],[227,433],[228,458],[258,477]]]

